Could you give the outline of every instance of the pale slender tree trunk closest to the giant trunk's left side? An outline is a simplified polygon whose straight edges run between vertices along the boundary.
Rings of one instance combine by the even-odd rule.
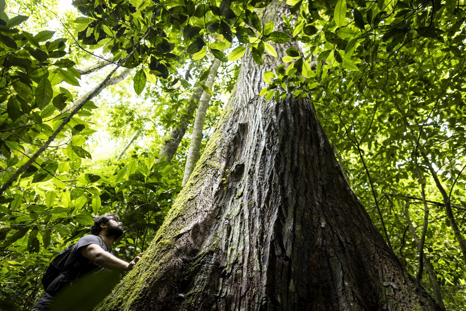
[[[219,69],[220,61],[218,59],[213,62],[210,74],[206,81],[206,86],[212,89],[213,82],[217,76],[217,70]],[[199,102],[198,110],[196,111],[196,117],[194,118],[194,124],[192,125],[191,143],[189,144],[188,156],[186,158],[185,173],[183,176],[183,182],[181,186],[185,186],[186,181],[191,175],[192,169],[199,160],[199,152],[201,149],[201,142],[203,138],[204,123],[206,121],[206,112],[209,108],[211,95],[204,91],[202,93],[201,101]]]

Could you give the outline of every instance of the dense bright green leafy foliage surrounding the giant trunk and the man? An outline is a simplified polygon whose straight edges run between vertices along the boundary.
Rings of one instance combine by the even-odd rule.
[[[466,310],[464,0],[288,0],[285,30],[262,22],[267,0],[75,0],[56,33],[26,16],[53,17],[58,2],[0,0],[0,308],[30,309],[48,263],[92,216],[120,215],[121,258],[144,250],[181,189],[189,135],[171,162],[158,153],[192,123],[195,89],[213,95],[205,143],[247,49],[261,64],[277,56],[271,41],[294,40],[260,95],[314,103],[391,249],[433,295],[425,255],[446,309]],[[130,79],[80,102],[115,65]],[[99,133],[122,143],[93,160]]]

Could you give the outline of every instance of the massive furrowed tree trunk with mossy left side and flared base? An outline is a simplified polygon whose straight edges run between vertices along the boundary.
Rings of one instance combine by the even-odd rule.
[[[313,105],[259,97],[288,47],[263,66],[243,57],[163,226],[96,310],[439,310],[348,187]]]

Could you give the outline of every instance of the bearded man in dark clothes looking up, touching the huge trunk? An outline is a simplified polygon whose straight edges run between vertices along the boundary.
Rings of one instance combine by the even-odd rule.
[[[123,234],[123,224],[118,220],[118,216],[114,213],[94,219],[94,226],[90,227],[91,235],[86,235],[76,242],[62,272],[50,283],[44,295],[34,304],[32,311],[49,309],[53,297],[78,279],[91,279],[96,273],[104,270],[130,271],[134,267],[144,253],[140,253],[130,263],[113,255],[113,242]],[[99,273],[99,275],[104,277],[105,274]]]

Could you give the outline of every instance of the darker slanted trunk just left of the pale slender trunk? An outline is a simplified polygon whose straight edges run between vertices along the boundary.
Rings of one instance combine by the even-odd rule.
[[[211,75],[209,75],[209,77],[210,76]],[[175,155],[178,149],[179,143],[181,142],[181,139],[183,139],[183,137],[185,136],[188,125],[191,123],[192,114],[194,113],[196,107],[199,105],[199,101],[201,99],[202,94],[203,90],[201,87],[197,87],[196,89],[194,89],[194,92],[192,93],[191,98],[188,101],[188,106],[186,108],[186,111],[188,112],[188,117],[183,117],[179,122],[178,126],[171,130],[169,138],[165,140],[164,146],[162,147],[162,149],[160,149],[159,155],[162,157],[164,154],[166,154],[167,161],[171,162],[171,159],[173,159],[173,156]]]

